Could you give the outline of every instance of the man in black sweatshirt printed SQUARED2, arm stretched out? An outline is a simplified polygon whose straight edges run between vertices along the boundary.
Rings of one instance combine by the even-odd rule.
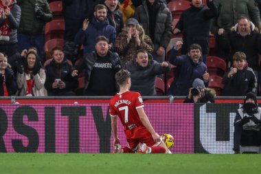
[[[113,96],[117,92],[115,73],[122,68],[120,56],[109,51],[109,41],[105,36],[95,39],[95,52],[85,54],[76,65],[72,76],[84,70],[86,96]]]

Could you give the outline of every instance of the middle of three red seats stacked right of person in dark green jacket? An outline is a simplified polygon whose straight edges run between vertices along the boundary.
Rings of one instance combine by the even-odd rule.
[[[54,19],[45,25],[45,41],[49,39],[63,39],[65,34],[65,20]]]

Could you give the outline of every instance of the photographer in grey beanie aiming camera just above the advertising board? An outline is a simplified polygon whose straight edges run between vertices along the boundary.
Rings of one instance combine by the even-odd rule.
[[[188,96],[185,98],[184,103],[199,103],[199,102],[215,102],[214,89],[206,89],[203,80],[196,78],[193,81],[192,88],[190,88]]]

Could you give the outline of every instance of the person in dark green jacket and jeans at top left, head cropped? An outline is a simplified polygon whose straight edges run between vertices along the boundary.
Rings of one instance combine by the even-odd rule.
[[[45,23],[52,21],[53,15],[46,0],[17,0],[21,8],[18,30],[19,52],[34,46],[43,63],[45,44]]]

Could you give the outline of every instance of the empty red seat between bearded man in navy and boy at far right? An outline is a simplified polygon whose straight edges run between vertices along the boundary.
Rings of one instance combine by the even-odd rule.
[[[222,58],[217,56],[207,56],[207,72],[210,75],[223,77],[227,71],[227,64]]]

